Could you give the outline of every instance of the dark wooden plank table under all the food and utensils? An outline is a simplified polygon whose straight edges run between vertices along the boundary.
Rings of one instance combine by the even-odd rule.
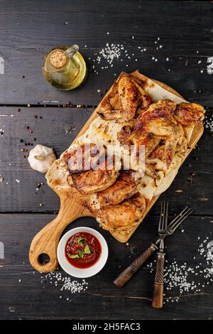
[[[187,100],[204,104],[210,117],[213,75],[207,73],[207,58],[213,56],[213,4],[210,1],[1,0],[0,6],[0,56],[4,60],[4,74],[0,74],[3,178],[0,242],[4,244],[4,259],[0,260],[0,318],[212,318],[211,283],[201,287],[199,293],[181,296],[178,287],[165,290],[165,305],[160,311],[151,308],[154,271],[151,273],[147,266],[124,289],[116,289],[112,284],[121,267],[155,237],[159,201],[129,245],[119,244],[108,232],[100,231],[109,244],[109,260],[97,276],[87,279],[87,291],[76,294],[60,291],[60,284],[50,284],[44,274],[35,272],[28,262],[31,239],[55,217],[59,201],[46,185],[45,176],[30,168],[27,158],[23,158],[28,152],[21,149],[29,150],[31,145],[39,143],[53,147],[59,156],[121,70],[138,69],[167,83]],[[43,79],[43,56],[56,45],[72,43],[80,45],[89,75],[77,90],[60,92]],[[123,62],[119,58],[112,68],[104,69],[106,64],[93,60],[106,43],[123,44],[129,55],[134,55]],[[141,52],[138,46],[146,50]],[[72,106],[63,107],[68,102]],[[74,129],[67,134],[65,129],[70,123]],[[194,215],[166,242],[168,265],[175,258],[180,265],[200,263],[205,268],[197,247],[205,237],[213,239],[212,157],[212,134],[205,129],[197,149],[161,196],[162,200],[170,201],[170,215],[185,204],[194,208]],[[44,185],[36,190],[38,183]],[[69,228],[80,225],[99,230],[97,222],[89,217],[73,222]],[[178,302],[170,301],[177,296],[180,296]]]

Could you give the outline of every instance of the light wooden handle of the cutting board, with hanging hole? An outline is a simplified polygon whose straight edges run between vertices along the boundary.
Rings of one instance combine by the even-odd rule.
[[[70,208],[72,208],[72,213],[67,215]],[[61,202],[58,216],[43,227],[31,242],[29,260],[35,270],[50,272],[58,268],[57,249],[63,230],[70,222],[85,215],[88,216],[88,213],[85,214],[82,207],[73,198],[67,198],[67,200]],[[48,262],[40,261],[40,258],[44,255],[48,258]]]

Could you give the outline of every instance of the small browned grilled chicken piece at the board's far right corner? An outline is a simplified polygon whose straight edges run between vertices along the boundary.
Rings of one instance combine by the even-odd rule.
[[[196,103],[182,102],[175,109],[175,119],[182,125],[191,125],[204,117],[204,107]]]

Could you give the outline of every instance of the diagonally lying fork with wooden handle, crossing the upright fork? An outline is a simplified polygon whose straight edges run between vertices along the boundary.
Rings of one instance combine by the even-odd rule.
[[[192,209],[190,208],[188,209],[188,207],[182,210],[179,213],[179,215],[177,215],[175,219],[173,219],[172,222],[170,222],[166,235],[163,237],[163,239],[168,235],[172,235],[173,232],[175,232],[175,230],[181,224],[181,222],[183,222],[186,219],[186,217],[191,213]],[[160,243],[160,238],[158,238],[155,242],[150,244],[148,248],[141,255],[136,257],[136,259],[134,259],[133,262],[131,262],[131,264],[129,264],[129,266],[127,266],[126,269],[124,269],[124,271],[122,271],[121,274],[119,274],[119,276],[116,277],[116,279],[114,280],[114,284],[118,288],[124,286],[124,284],[126,284],[126,282],[129,281],[129,279],[131,279],[131,277],[134,274],[136,274],[136,272],[138,271],[139,268],[141,268],[144,262],[146,262],[146,260],[149,257],[151,257],[151,254],[153,254],[153,252],[155,252],[155,250],[158,249],[159,243]]]

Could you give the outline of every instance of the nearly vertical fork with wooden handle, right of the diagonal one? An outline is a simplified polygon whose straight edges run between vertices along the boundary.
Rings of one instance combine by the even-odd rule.
[[[158,235],[160,239],[156,271],[155,271],[155,281],[153,290],[153,308],[163,307],[163,271],[165,262],[165,252],[164,252],[164,238],[168,230],[168,202],[160,203],[160,220],[158,224]]]

